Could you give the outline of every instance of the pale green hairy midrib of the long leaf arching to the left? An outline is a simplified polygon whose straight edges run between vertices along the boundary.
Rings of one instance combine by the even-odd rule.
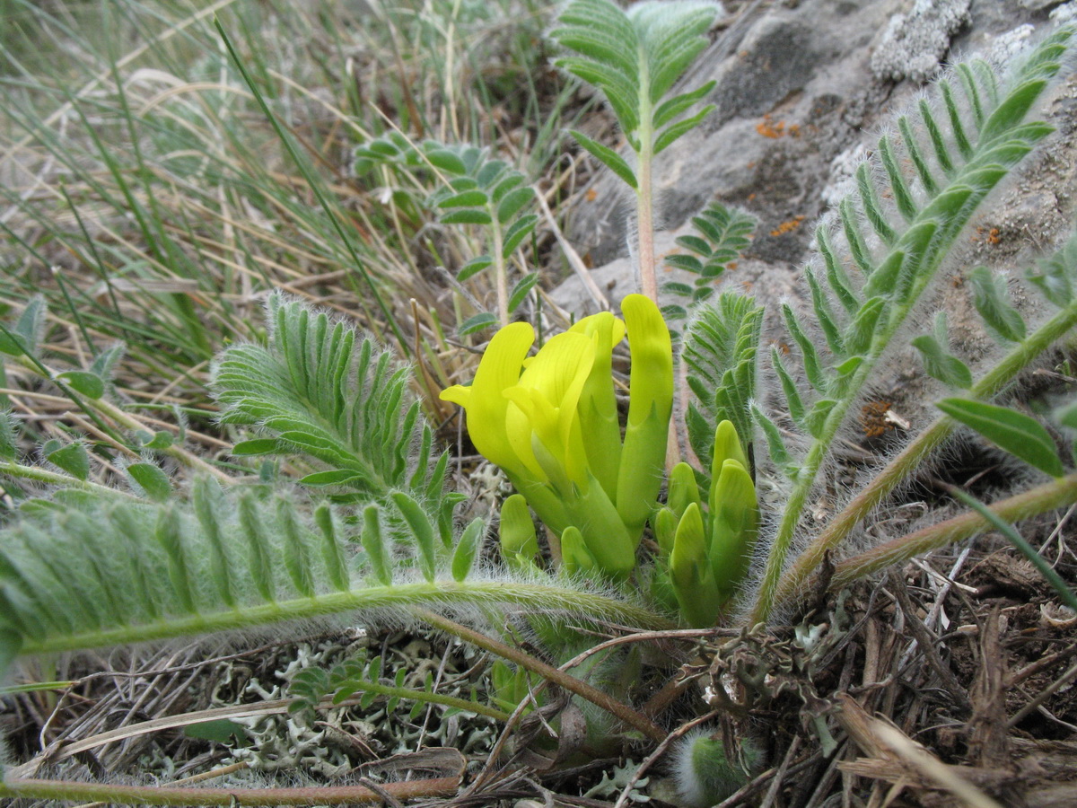
[[[285,621],[312,619],[328,614],[367,609],[412,608],[420,604],[476,605],[512,603],[532,611],[565,611],[593,618],[626,623],[640,628],[669,628],[668,621],[640,607],[620,600],[548,584],[518,584],[502,581],[457,583],[452,581],[374,586],[348,591],[333,591],[312,598],[295,598],[271,603],[240,607],[211,614],[190,614],[163,618],[137,626],[81,631],[28,641],[22,654],[80,651],[109,645],[124,645],[173,637],[229,631]]]

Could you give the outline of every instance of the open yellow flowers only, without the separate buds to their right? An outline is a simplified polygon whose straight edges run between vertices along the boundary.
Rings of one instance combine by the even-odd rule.
[[[490,340],[472,385],[442,393],[466,412],[475,448],[561,540],[569,572],[614,581],[635,567],[662,483],[673,405],[673,351],[658,307],[633,294],[621,310],[624,321],[609,312],[584,318],[530,358],[531,325],[506,325]],[[623,438],[612,363],[626,333],[632,366]],[[508,533],[518,534],[517,521],[506,520]]]

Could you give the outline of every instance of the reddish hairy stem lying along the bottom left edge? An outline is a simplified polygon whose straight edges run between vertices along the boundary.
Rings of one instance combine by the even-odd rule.
[[[397,799],[454,796],[459,778],[383,783],[379,788]],[[66,802],[103,802],[109,805],[350,805],[381,803],[381,794],[363,785],[308,789],[186,788],[182,785],[116,785],[67,780],[9,780],[0,796]]]

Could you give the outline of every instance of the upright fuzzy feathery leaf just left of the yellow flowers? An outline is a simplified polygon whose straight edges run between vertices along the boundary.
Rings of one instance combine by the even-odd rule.
[[[213,367],[222,420],[276,433],[240,442],[235,452],[302,451],[328,466],[306,477],[307,485],[382,499],[412,486],[425,501],[431,469],[416,465],[410,447],[429,445],[430,428],[407,389],[407,372],[354,326],[279,293],[267,310],[268,344],[228,348]]]

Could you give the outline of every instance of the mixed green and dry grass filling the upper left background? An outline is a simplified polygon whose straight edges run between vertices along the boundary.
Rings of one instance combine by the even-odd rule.
[[[121,378],[136,399],[154,403],[165,387],[198,406],[213,353],[256,338],[262,296],[282,288],[404,356],[418,346],[428,408],[442,412],[433,387],[473,362],[445,335],[474,310],[440,267],[467,261],[478,239],[417,204],[433,186],[388,172],[360,181],[350,153],[392,126],[492,144],[533,180],[563,170],[572,93],[545,69],[548,12],[530,0],[373,11],[6,0],[0,301],[43,294],[50,349],[76,363],[123,340]],[[480,302],[490,291],[472,289]]]

